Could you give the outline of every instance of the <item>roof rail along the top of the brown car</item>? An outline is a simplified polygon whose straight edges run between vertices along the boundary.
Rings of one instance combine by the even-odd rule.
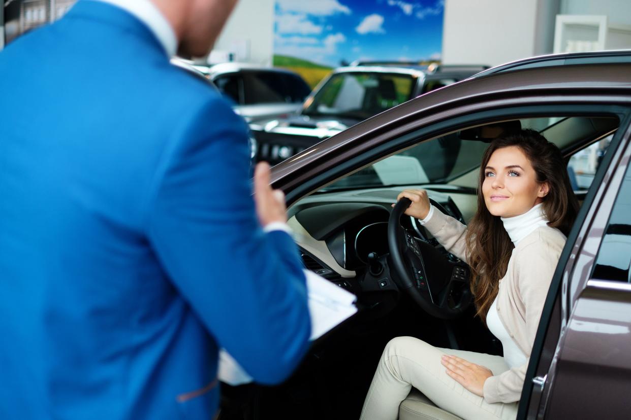
[[[553,67],[557,65],[615,64],[629,62],[631,62],[631,50],[548,54],[496,65],[495,67],[481,71],[471,77],[478,78],[500,72],[533,69],[538,67]]]

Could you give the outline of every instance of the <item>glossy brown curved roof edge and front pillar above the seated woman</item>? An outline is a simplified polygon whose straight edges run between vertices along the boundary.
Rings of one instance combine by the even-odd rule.
[[[300,152],[298,155],[281,162],[274,167],[273,181],[277,181],[304,161],[315,161],[326,156],[331,150],[344,149],[361,138],[364,133],[379,132],[387,127],[402,127],[410,119],[418,120],[422,115],[444,110],[444,117],[457,106],[469,106],[481,100],[492,98],[498,103],[504,98],[516,96],[567,96],[568,94],[586,94],[586,97],[598,94],[607,97],[611,103],[626,103],[631,96],[631,62],[594,64],[576,64],[570,66],[534,67],[517,71],[497,72],[487,76],[469,79],[445,86],[444,88],[411,99],[395,106],[343,132],[323,140],[321,143]],[[617,97],[618,99],[616,99]],[[591,99],[586,99],[591,100]],[[359,147],[373,147],[366,143]],[[327,159],[327,158],[324,158]]]

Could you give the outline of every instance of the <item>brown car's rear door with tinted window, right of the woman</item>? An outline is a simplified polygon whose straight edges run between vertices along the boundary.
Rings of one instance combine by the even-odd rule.
[[[628,418],[631,405],[631,130],[611,140],[557,268],[521,418]],[[557,290],[553,288],[557,287]]]

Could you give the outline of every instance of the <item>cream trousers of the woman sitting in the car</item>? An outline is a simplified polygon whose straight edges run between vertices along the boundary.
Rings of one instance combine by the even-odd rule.
[[[394,338],[386,345],[372,378],[361,419],[396,420],[399,404],[408,396],[411,387],[420,390],[436,406],[465,420],[514,419],[517,416],[517,402],[489,404],[449,377],[440,363],[444,354],[486,366],[493,375],[509,370],[501,356],[436,348],[413,337]]]

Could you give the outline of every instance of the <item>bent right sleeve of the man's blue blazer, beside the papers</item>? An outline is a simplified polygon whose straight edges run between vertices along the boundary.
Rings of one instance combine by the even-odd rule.
[[[259,225],[243,120],[213,98],[182,126],[148,203],[151,246],[218,343],[257,382],[281,382],[309,346],[298,250]]]

